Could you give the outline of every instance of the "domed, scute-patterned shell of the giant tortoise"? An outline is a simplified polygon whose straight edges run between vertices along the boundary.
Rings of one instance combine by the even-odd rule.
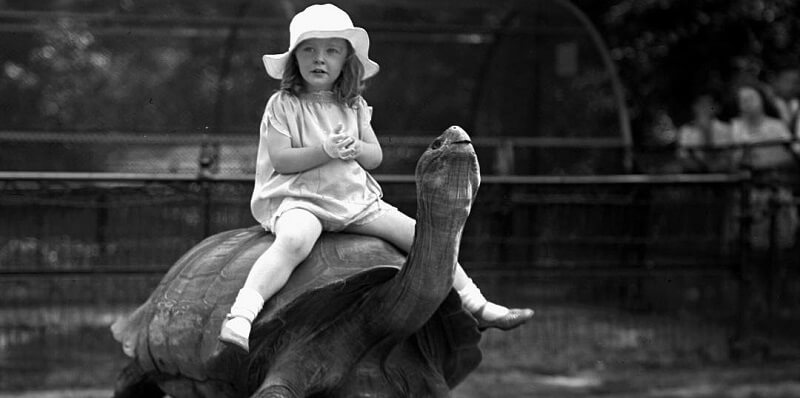
[[[220,357],[224,363],[233,360],[234,353],[225,352],[229,347],[217,340],[219,327],[253,262],[272,241],[272,235],[251,227],[199,243],[176,262],[145,304],[114,325],[115,336],[123,346],[135,346],[129,355],[137,356],[146,371],[196,380],[224,373]],[[380,239],[326,233],[286,286],[267,301],[257,323],[280,327],[284,320],[278,314],[300,296],[313,298],[316,293],[311,292],[325,287],[341,289],[359,273],[391,268],[389,274],[377,278],[385,280],[404,260],[394,246]],[[364,277],[362,284],[374,282],[371,279],[375,278]],[[323,300],[337,299],[335,292],[323,296]],[[128,337],[124,337],[126,333]]]

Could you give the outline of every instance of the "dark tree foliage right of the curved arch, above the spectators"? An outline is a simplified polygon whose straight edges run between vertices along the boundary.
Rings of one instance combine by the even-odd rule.
[[[795,0],[576,0],[611,47],[636,125],[666,107],[680,122],[699,92],[800,67]],[[641,128],[637,129],[641,132]]]

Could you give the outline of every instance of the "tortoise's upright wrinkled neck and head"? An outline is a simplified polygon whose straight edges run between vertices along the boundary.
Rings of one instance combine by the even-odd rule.
[[[460,128],[445,131],[417,164],[414,243],[398,275],[375,289],[376,326],[397,339],[419,330],[453,286],[461,235],[480,184],[477,158]]]

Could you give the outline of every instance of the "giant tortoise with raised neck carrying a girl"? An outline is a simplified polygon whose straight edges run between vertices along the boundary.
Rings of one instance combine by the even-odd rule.
[[[408,256],[377,238],[323,234],[254,321],[249,354],[217,337],[272,237],[254,227],[207,238],[112,325],[132,357],[114,396],[448,396],[481,360],[477,322],[452,288],[479,183],[469,136],[447,129],[417,163]]]

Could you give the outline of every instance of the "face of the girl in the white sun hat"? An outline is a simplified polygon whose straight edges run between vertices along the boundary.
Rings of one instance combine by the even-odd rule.
[[[308,91],[330,90],[347,60],[347,40],[304,40],[295,49],[295,57]]]

